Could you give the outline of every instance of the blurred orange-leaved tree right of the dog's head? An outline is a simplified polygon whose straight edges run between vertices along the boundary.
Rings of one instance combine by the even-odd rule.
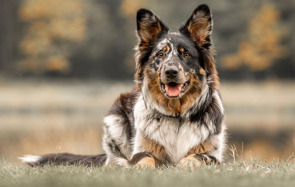
[[[263,4],[248,24],[247,40],[240,43],[237,53],[223,58],[222,66],[228,69],[248,66],[260,71],[271,66],[275,59],[283,58],[286,49],[281,44],[283,30],[278,27],[279,18],[273,4]]]

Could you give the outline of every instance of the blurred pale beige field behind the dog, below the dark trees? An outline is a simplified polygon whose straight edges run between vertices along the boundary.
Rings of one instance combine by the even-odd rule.
[[[102,118],[130,82],[1,80],[0,154],[18,164],[23,154],[99,154]],[[222,82],[229,144],[245,158],[289,157],[294,152],[292,81]],[[250,152],[251,151],[251,152]]]

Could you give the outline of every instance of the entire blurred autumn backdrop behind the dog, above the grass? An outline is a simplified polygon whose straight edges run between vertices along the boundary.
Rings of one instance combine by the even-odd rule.
[[[0,154],[99,154],[102,118],[134,87],[136,11],[177,32],[206,3],[229,144],[244,157],[295,151],[295,1],[5,1]],[[227,154],[229,157],[230,155]]]

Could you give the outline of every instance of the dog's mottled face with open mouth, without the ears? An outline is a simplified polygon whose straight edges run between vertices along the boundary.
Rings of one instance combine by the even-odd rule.
[[[168,99],[182,97],[191,87],[202,82],[199,52],[189,38],[179,33],[168,33],[155,42],[145,68],[151,88],[160,90]]]

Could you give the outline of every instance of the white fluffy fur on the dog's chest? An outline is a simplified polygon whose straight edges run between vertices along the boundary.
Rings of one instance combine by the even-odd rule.
[[[184,121],[179,126],[179,118],[156,118],[153,111],[145,108],[142,98],[135,104],[134,117],[136,136],[132,155],[145,151],[140,142],[141,136],[144,136],[162,145],[171,161],[178,163],[191,148],[203,142],[209,135],[204,125]]]

